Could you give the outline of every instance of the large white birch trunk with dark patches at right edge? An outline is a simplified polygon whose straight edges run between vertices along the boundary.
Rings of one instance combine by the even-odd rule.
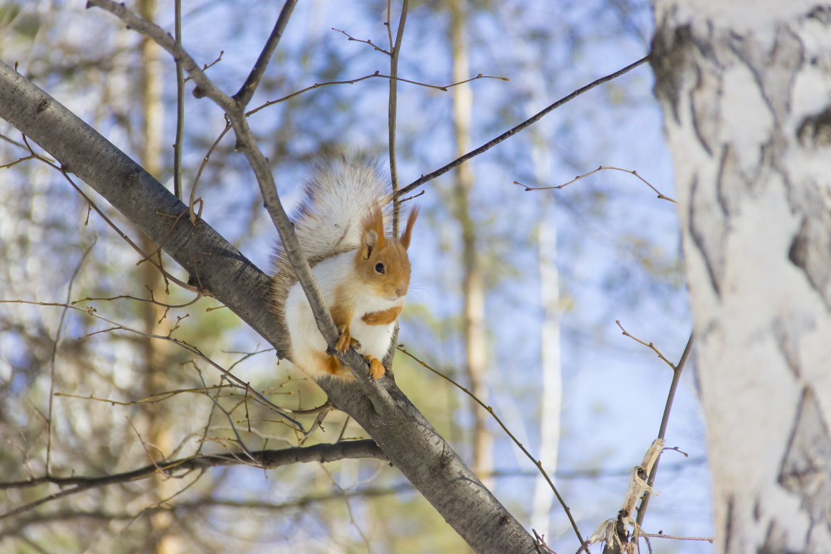
[[[831,7],[655,11],[717,552],[831,552]]]

